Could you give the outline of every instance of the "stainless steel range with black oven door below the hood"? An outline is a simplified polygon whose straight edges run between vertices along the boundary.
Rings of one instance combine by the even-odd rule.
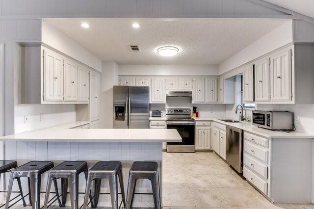
[[[195,152],[195,122],[191,117],[191,109],[166,109],[167,129],[176,129],[182,137],[182,142],[168,142],[167,152],[194,153]]]

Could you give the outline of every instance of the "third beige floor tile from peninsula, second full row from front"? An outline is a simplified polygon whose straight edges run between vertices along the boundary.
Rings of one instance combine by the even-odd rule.
[[[210,175],[218,187],[244,188],[245,186],[234,175]]]

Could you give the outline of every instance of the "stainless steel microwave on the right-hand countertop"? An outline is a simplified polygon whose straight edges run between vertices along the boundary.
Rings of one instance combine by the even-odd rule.
[[[252,124],[269,130],[293,130],[293,112],[254,110]]]

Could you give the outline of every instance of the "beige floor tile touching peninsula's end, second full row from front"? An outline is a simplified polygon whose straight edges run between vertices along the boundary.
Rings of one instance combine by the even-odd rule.
[[[167,174],[162,176],[162,186],[163,187],[188,187],[185,175],[181,174]]]

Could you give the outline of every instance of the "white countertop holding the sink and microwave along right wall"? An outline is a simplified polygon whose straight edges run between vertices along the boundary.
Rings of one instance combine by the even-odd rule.
[[[214,121],[220,124],[242,129],[243,131],[249,131],[251,133],[255,133],[266,138],[314,138],[314,135],[309,134],[309,133],[302,133],[298,131],[291,131],[291,132],[271,131],[267,129],[258,128],[257,126],[254,126],[248,122],[227,123],[227,122],[219,120],[219,119],[230,119],[230,118],[220,117],[219,119],[218,118],[194,118],[194,119],[195,121]]]

